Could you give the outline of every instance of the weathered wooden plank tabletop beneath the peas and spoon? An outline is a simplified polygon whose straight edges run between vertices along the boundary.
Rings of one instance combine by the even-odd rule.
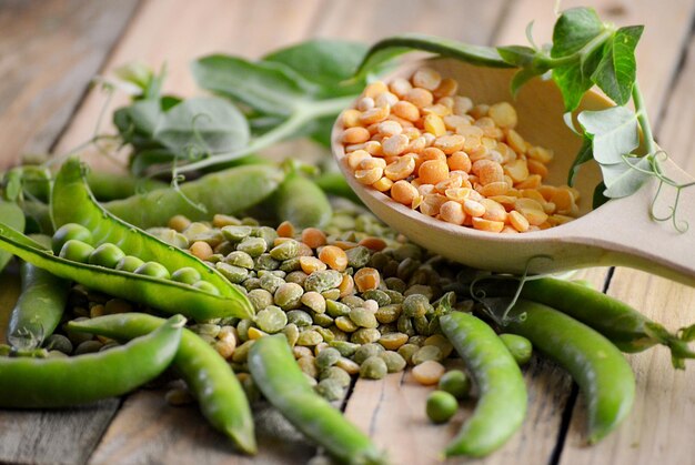
[[[638,77],[656,134],[695,174],[695,0],[585,2],[606,20],[646,24]],[[550,0],[0,0],[0,168],[23,152],[64,153],[88,140],[105,100],[88,88],[90,80],[133,59],[165,61],[167,89],[192,94],[188,63],[213,51],[254,58],[311,37],[374,41],[403,31],[523,43],[533,19],[535,37],[546,40],[553,14]],[[684,253],[695,260],[695,251]],[[695,289],[620,267],[582,276],[669,328],[695,321]],[[604,442],[583,445],[585,407],[576,387],[553,364],[534,360],[525,371],[523,429],[480,463],[695,463],[695,366],[675,372],[662,347],[628,358],[637,377],[634,411]],[[426,393],[407,374],[359,381],[345,415],[387,448],[393,463],[435,463],[472,405],[451,424],[432,426],[423,413]],[[165,405],[161,392],[61,412],[2,411],[0,462],[294,464],[315,455],[272,410],[260,412],[259,424],[261,452],[252,459],[233,455],[194,407]]]

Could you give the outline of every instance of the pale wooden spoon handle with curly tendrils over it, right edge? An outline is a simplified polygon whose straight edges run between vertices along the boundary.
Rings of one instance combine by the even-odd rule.
[[[681,182],[694,181],[671,162],[664,163],[664,171]],[[606,256],[602,261],[607,264],[644,270],[695,286],[695,186],[681,191],[675,223],[673,219],[656,221],[649,216],[657,188],[658,183],[652,180],[634,195],[596,210],[592,214],[592,237],[584,242],[604,249]],[[655,216],[672,213],[675,194],[674,188],[662,186],[654,205]]]

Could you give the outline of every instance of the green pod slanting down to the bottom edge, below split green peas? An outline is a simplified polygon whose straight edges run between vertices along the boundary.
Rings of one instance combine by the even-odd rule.
[[[384,462],[370,438],[309,385],[283,334],[253,343],[249,370],[265,398],[331,455],[354,464]]]

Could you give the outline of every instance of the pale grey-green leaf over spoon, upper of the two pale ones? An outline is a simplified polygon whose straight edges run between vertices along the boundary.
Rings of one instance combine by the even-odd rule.
[[[625,107],[583,111],[578,120],[592,134],[594,159],[601,164],[623,163],[623,155],[639,145],[637,115]]]

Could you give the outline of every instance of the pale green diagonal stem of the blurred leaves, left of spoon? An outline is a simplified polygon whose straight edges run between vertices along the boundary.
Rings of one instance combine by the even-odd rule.
[[[331,114],[339,113],[341,110],[350,107],[354,101],[355,95],[343,97],[340,99],[322,100],[318,102],[306,102],[288,118],[283,123],[275,127],[273,130],[255,138],[249,143],[249,145],[235,150],[233,152],[220,153],[214,156],[189,163],[187,165],[177,168],[177,173],[184,173],[190,171],[200,170],[218,163],[224,163],[240,156],[248,155],[259,150],[265,149],[274,143],[291,138],[296,134],[305,124],[319,118],[329,117]]]

